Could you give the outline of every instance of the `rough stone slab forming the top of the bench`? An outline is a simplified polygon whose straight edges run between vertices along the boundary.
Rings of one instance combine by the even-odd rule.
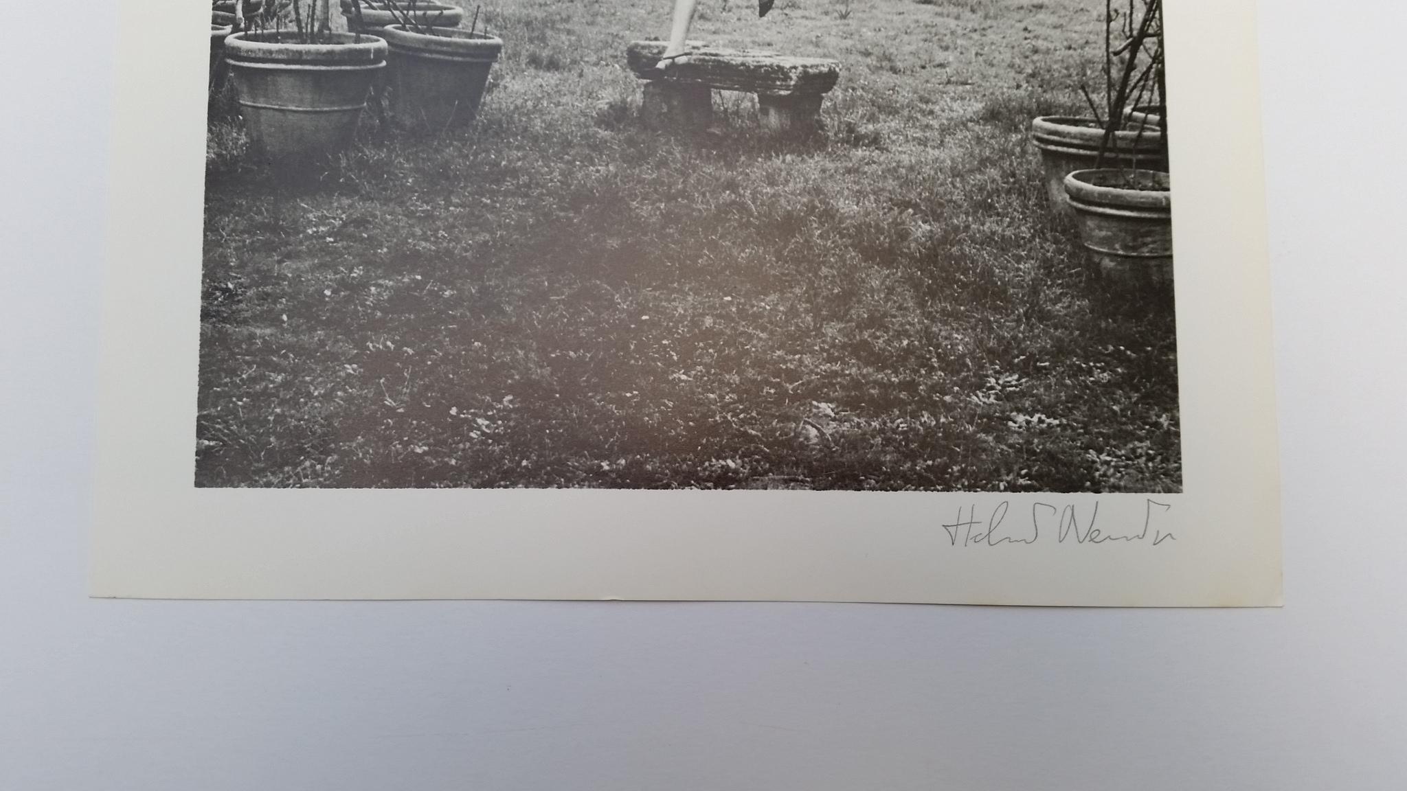
[[[663,41],[633,41],[626,63],[643,80],[740,90],[758,96],[820,96],[836,87],[840,62],[826,58],[792,58],[754,49],[689,48],[688,58],[670,69],[656,69],[664,55]]]

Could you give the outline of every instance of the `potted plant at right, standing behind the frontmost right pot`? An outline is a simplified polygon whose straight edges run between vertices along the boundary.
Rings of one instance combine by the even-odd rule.
[[[1142,3],[1142,15],[1135,21],[1135,3]],[[1154,100],[1161,101],[1161,65],[1157,77],[1151,63],[1133,51],[1142,21],[1158,21],[1157,41],[1162,41],[1162,13],[1150,14],[1150,0],[1130,0],[1128,10],[1114,8],[1114,0],[1104,0],[1104,101],[1100,110],[1088,87],[1081,86],[1090,114],[1085,117],[1043,115],[1031,121],[1031,142],[1041,153],[1045,193],[1051,208],[1062,217],[1072,217],[1065,194],[1065,176],[1075,170],[1114,166],[1123,169],[1164,170],[1168,166],[1166,142],[1159,124],[1144,124],[1147,113],[1134,114]],[[1124,34],[1116,45],[1116,35]],[[1145,31],[1144,39],[1154,38]],[[1128,69],[1135,69],[1130,72]],[[1138,69],[1142,70],[1138,70]],[[1126,118],[1127,115],[1127,118]],[[1127,121],[1127,127],[1124,127]]]

